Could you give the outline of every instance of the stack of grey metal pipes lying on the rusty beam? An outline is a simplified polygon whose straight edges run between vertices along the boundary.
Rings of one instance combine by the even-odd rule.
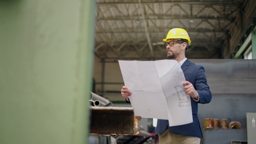
[[[112,105],[112,102],[108,101],[106,98],[103,98],[93,92],[90,92],[92,94],[91,99],[89,100],[89,105],[94,107],[107,107]]]

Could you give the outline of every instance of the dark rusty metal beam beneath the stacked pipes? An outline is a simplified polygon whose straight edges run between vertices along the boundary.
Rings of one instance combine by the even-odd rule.
[[[140,116],[131,107],[90,107],[90,134],[140,135]]]

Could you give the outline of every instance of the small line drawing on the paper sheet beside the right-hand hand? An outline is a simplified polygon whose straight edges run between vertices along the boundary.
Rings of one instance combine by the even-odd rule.
[[[178,97],[179,97],[179,106],[183,107],[183,106],[189,106],[191,105],[189,103],[190,101],[190,96],[187,95],[184,91],[184,86],[180,85],[180,86],[175,86],[175,89],[178,93]]]

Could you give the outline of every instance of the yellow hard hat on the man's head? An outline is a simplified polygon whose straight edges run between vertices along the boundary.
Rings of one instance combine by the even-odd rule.
[[[191,43],[189,34],[186,32],[185,29],[180,29],[180,28],[171,29],[168,32],[166,39],[163,39],[163,41],[167,41],[168,39],[176,39],[176,38],[185,39],[185,40],[188,40],[188,44]]]

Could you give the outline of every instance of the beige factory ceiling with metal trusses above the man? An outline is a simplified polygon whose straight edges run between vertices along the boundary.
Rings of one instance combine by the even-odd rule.
[[[95,14],[102,60],[166,59],[173,28],[189,33],[187,58],[232,58],[255,26],[256,0],[96,0]]]

